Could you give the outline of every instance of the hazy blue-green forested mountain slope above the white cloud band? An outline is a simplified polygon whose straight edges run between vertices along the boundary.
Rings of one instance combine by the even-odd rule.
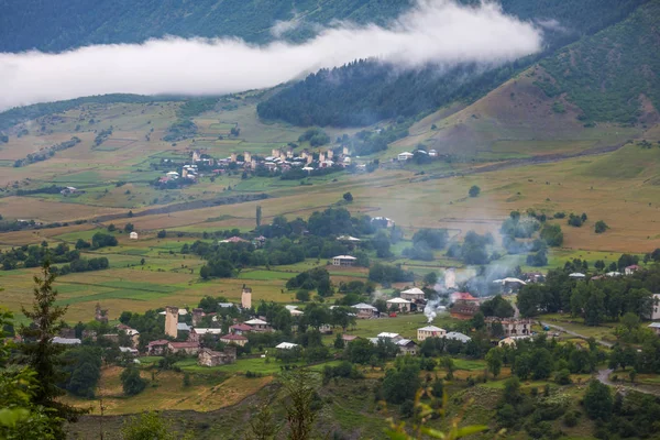
[[[0,0],[0,52],[57,52],[165,35],[263,43],[273,37],[275,22],[292,20],[294,12],[304,25],[287,36],[300,40],[312,23],[382,24],[409,6],[406,0]]]

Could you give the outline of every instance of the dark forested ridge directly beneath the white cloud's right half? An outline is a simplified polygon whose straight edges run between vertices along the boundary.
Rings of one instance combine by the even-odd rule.
[[[260,103],[257,111],[261,118],[301,127],[369,125],[414,117],[457,99],[477,98],[525,65],[519,61],[484,73],[473,64],[449,72],[436,66],[398,72],[391,64],[363,59],[309,75]]]

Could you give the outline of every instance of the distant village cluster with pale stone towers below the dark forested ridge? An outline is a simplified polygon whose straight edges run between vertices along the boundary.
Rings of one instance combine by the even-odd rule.
[[[193,158],[190,161],[191,164],[184,165],[180,174],[176,170],[167,172],[158,182],[164,184],[178,178],[196,180],[200,176],[198,172],[198,164],[217,166],[212,173],[215,175],[219,175],[223,174],[227,167],[232,163],[246,170],[254,170],[258,166],[264,166],[268,170],[279,169],[282,172],[286,172],[292,168],[300,168],[308,173],[311,173],[317,168],[328,168],[334,165],[345,167],[352,163],[348,146],[342,147],[342,153],[339,155],[336,155],[332,150],[322,151],[317,154],[318,158],[316,160],[315,153],[310,152],[309,150],[302,150],[299,155],[296,155],[294,148],[292,146],[287,146],[285,148],[273,148],[271,151],[271,155],[263,158],[256,157],[250,152],[243,152],[243,161],[239,161],[238,153],[231,153],[231,155],[226,158],[213,160],[201,157],[201,153],[199,151],[195,151],[193,152]],[[359,169],[365,167],[366,165],[364,164],[358,165]]]

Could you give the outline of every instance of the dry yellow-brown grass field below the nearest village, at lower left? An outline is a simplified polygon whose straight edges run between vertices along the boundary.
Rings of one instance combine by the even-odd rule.
[[[147,387],[136,396],[123,395],[120,374],[123,369],[111,366],[102,370],[97,394],[102,396],[106,415],[135,414],[145,410],[196,410],[211,411],[234,405],[256,393],[273,380],[272,376],[246,378],[240,375],[231,377],[191,375],[190,386],[184,386],[184,373],[165,371],[152,382],[147,371],[143,378],[150,381]],[[98,399],[81,399],[66,396],[64,402],[82,408],[91,408],[99,414]]]

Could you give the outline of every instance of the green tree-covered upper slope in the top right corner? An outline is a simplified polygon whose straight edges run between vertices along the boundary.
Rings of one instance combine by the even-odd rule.
[[[586,121],[635,123],[660,109],[660,1],[547,58],[552,79],[537,84],[549,96],[566,94]],[[646,107],[646,109],[645,109]]]

